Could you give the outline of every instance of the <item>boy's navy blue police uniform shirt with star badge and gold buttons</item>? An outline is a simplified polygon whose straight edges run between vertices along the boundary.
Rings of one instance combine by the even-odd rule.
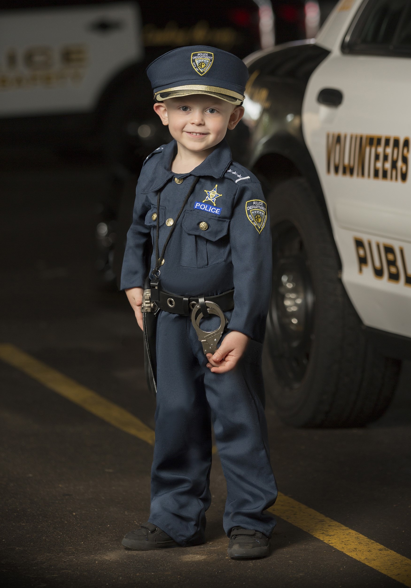
[[[198,182],[171,236],[161,288],[182,296],[213,296],[234,288],[228,328],[262,342],[271,293],[271,233],[257,178],[231,159],[223,139],[190,173],[175,174],[176,141],[156,149],[137,183],[133,223],[127,233],[121,288],[143,288],[155,266],[157,193],[159,255],[190,186]],[[181,183],[178,181],[183,179]],[[171,222],[173,221],[173,222]],[[151,265],[147,250],[154,245]]]

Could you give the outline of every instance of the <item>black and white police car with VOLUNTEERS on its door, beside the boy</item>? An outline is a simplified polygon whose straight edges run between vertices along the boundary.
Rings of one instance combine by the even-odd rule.
[[[268,391],[292,425],[365,425],[411,356],[411,1],[341,0],[315,39],[245,61]]]

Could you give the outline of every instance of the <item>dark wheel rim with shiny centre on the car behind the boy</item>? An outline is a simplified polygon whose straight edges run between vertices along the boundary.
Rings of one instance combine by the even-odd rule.
[[[304,241],[291,222],[272,228],[272,254],[269,352],[281,384],[296,390],[311,355],[315,298]]]

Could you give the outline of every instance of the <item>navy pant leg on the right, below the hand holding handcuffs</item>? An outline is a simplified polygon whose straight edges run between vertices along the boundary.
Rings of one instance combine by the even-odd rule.
[[[250,341],[237,368],[218,374],[205,367],[207,358],[196,341],[194,329],[190,336],[204,370],[207,402],[227,481],[225,533],[229,535],[233,527],[241,526],[270,537],[275,519],[264,510],[274,504],[277,485],[269,461],[267,422],[261,400],[262,345]]]

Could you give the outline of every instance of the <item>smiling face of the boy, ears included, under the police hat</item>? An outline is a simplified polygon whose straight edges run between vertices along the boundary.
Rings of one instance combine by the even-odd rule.
[[[218,145],[244,114],[242,106],[205,94],[169,98],[154,104],[154,111],[169,126],[173,139],[194,152]]]

